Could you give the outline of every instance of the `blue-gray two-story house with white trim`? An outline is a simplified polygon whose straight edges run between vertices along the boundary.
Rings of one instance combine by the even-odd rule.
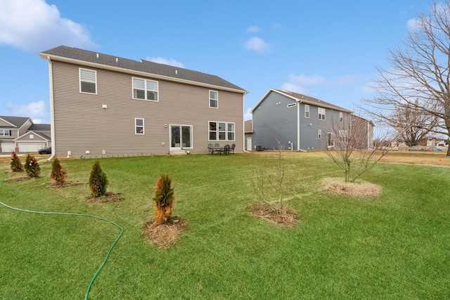
[[[334,147],[335,141],[348,138],[346,124],[352,124],[354,129],[357,127],[363,132],[361,148],[373,145],[371,121],[345,108],[300,93],[269,89],[251,112],[252,121],[245,131],[248,150],[274,150],[277,148],[276,139],[285,150]],[[336,130],[331,129],[333,126],[342,129],[339,130],[340,136],[335,136]]]

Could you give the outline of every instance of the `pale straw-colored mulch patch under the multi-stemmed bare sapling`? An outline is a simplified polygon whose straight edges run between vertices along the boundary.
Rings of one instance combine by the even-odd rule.
[[[329,193],[345,194],[353,197],[371,198],[381,194],[380,185],[367,182],[345,182],[342,178],[325,178],[321,181],[323,190]]]

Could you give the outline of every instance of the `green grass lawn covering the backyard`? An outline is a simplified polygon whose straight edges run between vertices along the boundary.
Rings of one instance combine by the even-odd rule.
[[[101,216],[124,228],[89,299],[450,298],[449,168],[377,164],[362,179],[383,193],[364,199],[321,190],[322,178],[341,174],[319,152],[283,159],[285,203],[300,216],[292,228],[248,212],[258,201],[250,176],[273,164],[270,155],[100,159],[108,191],[124,197],[110,203],[84,200],[93,159],[61,161],[68,181],[83,183],[66,188],[50,187],[45,161],[39,178],[5,181],[25,174],[13,174],[4,159],[0,201]],[[172,177],[174,214],[188,224],[169,249],[153,246],[141,229],[153,219],[161,173]],[[0,205],[0,299],[82,299],[119,233],[98,219]]]

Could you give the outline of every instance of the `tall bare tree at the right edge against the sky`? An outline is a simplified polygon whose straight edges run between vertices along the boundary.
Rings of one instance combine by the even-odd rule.
[[[424,116],[401,120],[402,132],[420,129],[443,136],[450,134],[450,4],[434,3],[411,25],[398,49],[389,51],[390,66],[376,69],[375,97],[366,99],[373,119],[392,124],[392,117]],[[396,120],[394,120],[396,121]],[[408,128],[409,127],[409,128]],[[412,128],[411,128],[412,127]],[[408,130],[406,130],[408,129]],[[416,133],[414,133],[416,134]],[[425,133],[424,133],[425,134]],[[450,156],[450,148],[447,150]]]

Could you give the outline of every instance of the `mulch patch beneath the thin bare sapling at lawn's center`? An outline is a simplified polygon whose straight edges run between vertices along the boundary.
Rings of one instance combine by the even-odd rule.
[[[279,209],[267,203],[252,205],[250,213],[265,221],[287,227],[294,226],[299,219],[295,211]]]

